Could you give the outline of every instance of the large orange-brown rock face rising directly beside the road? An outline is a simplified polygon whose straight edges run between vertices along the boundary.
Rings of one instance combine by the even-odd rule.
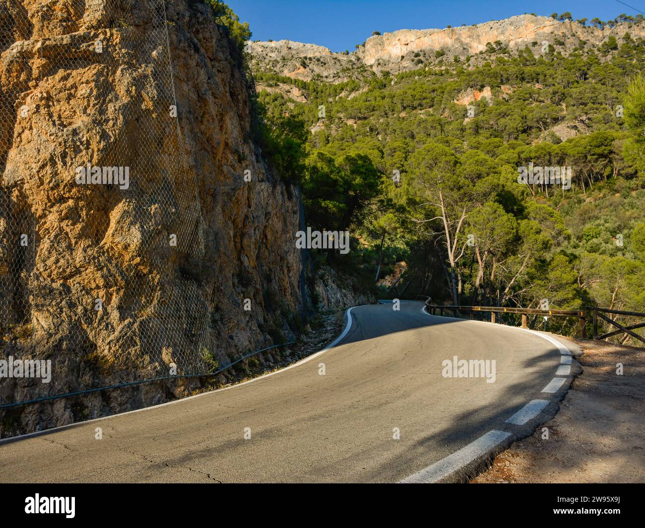
[[[209,372],[300,324],[299,200],[251,141],[241,56],[208,5],[166,4],[0,0],[0,360],[52,360],[0,404]],[[0,410],[0,433],[184,389]]]

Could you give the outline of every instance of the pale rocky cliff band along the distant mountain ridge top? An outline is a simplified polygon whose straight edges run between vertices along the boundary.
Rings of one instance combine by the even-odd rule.
[[[577,22],[559,22],[549,17],[519,15],[501,21],[474,26],[429,30],[399,30],[374,35],[350,54],[335,54],[327,48],[290,41],[248,43],[246,51],[253,57],[254,68],[275,71],[297,79],[344,81],[359,75],[362,68],[375,72],[401,72],[419,68],[419,64],[435,63],[437,52],[450,60],[464,59],[486,50],[487,43],[500,41],[511,52],[529,46],[534,54],[542,54],[542,43],[555,44],[566,54],[579,46],[598,46],[610,35],[645,37],[645,24],[621,23],[602,30]],[[535,44],[533,44],[535,43]],[[348,71],[353,68],[353,72]]]

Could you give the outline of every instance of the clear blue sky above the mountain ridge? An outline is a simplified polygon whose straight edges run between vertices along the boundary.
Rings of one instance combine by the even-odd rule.
[[[334,52],[354,50],[372,32],[479,24],[513,15],[571,12],[574,19],[613,19],[645,12],[645,0],[228,0],[253,40],[320,44]]]

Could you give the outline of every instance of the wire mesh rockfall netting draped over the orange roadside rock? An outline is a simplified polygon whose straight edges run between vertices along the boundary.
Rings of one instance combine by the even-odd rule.
[[[0,0],[0,404],[217,366],[164,0],[136,6]]]

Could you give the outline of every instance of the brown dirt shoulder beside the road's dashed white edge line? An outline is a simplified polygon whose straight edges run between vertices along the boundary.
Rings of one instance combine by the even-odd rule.
[[[645,482],[645,348],[576,342],[583,372],[559,413],[472,484]]]

